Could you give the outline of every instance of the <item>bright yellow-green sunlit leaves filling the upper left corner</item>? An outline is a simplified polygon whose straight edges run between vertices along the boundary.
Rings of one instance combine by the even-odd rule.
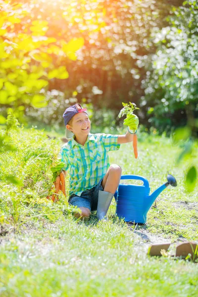
[[[0,1],[0,105],[22,118],[27,106],[45,107],[43,92],[51,79],[65,80],[65,59],[75,55],[83,38],[50,36],[49,21],[35,14],[35,1]]]

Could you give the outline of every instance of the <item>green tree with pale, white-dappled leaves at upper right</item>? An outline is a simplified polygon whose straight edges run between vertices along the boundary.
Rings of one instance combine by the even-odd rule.
[[[198,10],[196,1],[173,8],[169,25],[152,33],[156,52],[144,80],[149,121],[160,131],[187,122],[196,129],[198,116]],[[191,122],[191,123],[190,123]],[[193,122],[193,123],[192,123]],[[197,126],[198,127],[198,126]]]

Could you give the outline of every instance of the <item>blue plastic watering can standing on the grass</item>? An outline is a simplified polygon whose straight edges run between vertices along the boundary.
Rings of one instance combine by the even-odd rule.
[[[148,180],[139,175],[122,175],[121,180],[141,180],[143,185],[120,184],[114,197],[116,200],[116,213],[119,218],[124,218],[125,222],[135,222],[145,224],[147,213],[154,200],[169,185],[177,187],[174,176],[168,174],[167,182],[155,190],[150,196]]]

